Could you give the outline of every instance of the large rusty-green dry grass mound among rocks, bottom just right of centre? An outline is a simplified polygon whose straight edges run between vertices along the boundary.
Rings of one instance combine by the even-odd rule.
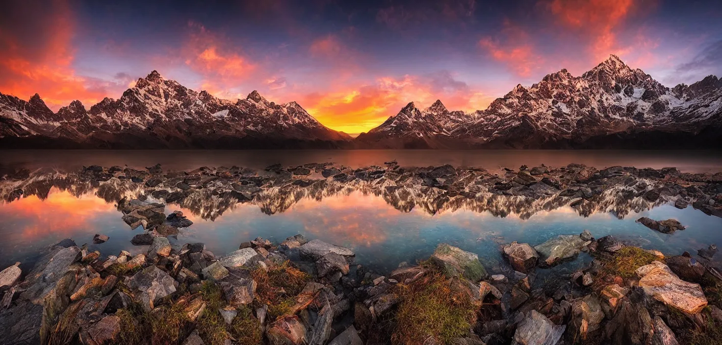
[[[393,344],[427,344],[431,339],[448,344],[469,333],[476,323],[477,308],[471,304],[469,293],[454,280],[436,273],[394,287],[400,302],[391,336]]]

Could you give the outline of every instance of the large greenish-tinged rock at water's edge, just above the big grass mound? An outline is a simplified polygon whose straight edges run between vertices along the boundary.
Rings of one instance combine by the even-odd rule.
[[[440,243],[430,260],[440,266],[448,276],[463,275],[473,282],[480,281],[487,276],[487,271],[479,262],[479,256],[465,250]]]

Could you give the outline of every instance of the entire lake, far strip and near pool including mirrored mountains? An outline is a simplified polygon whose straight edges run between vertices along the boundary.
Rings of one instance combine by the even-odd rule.
[[[399,165],[429,166],[451,164],[487,167],[490,174],[501,167],[518,169],[544,163],[552,167],[571,162],[609,167],[676,166],[682,172],[722,171],[716,152],[569,152],[569,151],[299,151],[299,152],[197,152],[197,151],[11,151],[2,152],[3,174],[20,168],[30,177],[0,180],[0,266],[21,261],[27,270],[38,252],[66,237],[103,256],[120,250],[143,253],[147,246],[131,245],[142,227],[131,230],[116,207],[118,198],[147,195],[147,201],[161,201],[148,190],[129,180],[110,178],[87,181],[70,178],[66,171],[97,164],[128,165],[142,169],[160,162],[165,171],[190,171],[201,166],[238,165],[259,169],[271,164],[296,166],[310,162],[336,162],[349,167],[383,165],[397,160]],[[263,172],[263,170],[261,170]],[[500,175],[500,176],[502,176]],[[320,175],[310,175],[316,181]],[[331,180],[329,178],[329,180]],[[201,242],[217,256],[237,250],[240,243],[261,236],[279,243],[286,237],[303,234],[309,240],[352,248],[355,261],[385,273],[401,262],[414,263],[430,256],[438,243],[449,243],[477,253],[490,271],[507,269],[500,256],[500,245],[518,241],[537,245],[557,235],[579,234],[590,230],[594,237],[614,235],[643,248],[661,250],[667,255],[684,251],[696,253],[712,243],[722,243],[722,218],[703,213],[692,206],[674,207],[673,201],[642,203],[615,201],[613,191],[601,193],[590,210],[573,207],[573,200],[558,196],[524,196],[477,193],[461,201],[429,198],[430,190],[408,187],[412,195],[375,189],[373,182],[357,180],[326,184],[323,188],[266,184],[251,200],[239,202],[199,188],[193,195],[168,203],[165,213],[183,211],[193,221],[181,228],[171,243]],[[147,188],[146,188],[147,189]],[[172,189],[172,188],[171,188]],[[467,188],[468,189],[468,188]],[[22,190],[22,196],[14,195]],[[611,189],[610,189],[611,190]],[[206,193],[207,192],[207,193]],[[559,199],[559,200],[557,200]],[[687,227],[674,234],[663,234],[635,222],[639,217],[674,218]],[[94,245],[96,233],[108,235],[106,243]],[[571,271],[590,259],[580,259],[557,270]]]

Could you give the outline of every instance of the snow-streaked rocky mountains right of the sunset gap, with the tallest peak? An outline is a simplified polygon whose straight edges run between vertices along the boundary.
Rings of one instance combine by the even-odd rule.
[[[581,77],[562,69],[474,113],[413,103],[361,134],[374,148],[718,148],[722,81],[669,89],[617,56]]]

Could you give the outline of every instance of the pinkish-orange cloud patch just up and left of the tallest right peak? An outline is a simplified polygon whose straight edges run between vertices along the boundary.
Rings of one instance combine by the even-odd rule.
[[[503,62],[521,77],[530,77],[531,72],[539,69],[544,60],[534,51],[529,38],[521,27],[505,20],[500,32],[503,40],[485,37],[479,40],[479,47],[485,49],[496,61]]]

